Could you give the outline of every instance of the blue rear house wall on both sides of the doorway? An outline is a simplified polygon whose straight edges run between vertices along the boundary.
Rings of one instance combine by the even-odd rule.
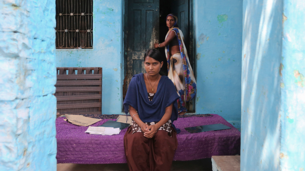
[[[94,1],[94,49],[56,50],[57,67],[103,67],[103,114],[122,113],[122,9],[120,0]],[[196,114],[216,113],[240,128],[242,0],[195,0],[194,16]]]

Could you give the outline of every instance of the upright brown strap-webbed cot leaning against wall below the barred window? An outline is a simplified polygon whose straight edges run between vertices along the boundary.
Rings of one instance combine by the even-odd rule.
[[[102,114],[102,68],[57,68],[57,112]]]

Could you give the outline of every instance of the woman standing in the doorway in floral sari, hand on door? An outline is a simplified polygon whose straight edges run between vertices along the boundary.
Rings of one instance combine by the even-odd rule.
[[[168,61],[168,78],[170,78],[180,98],[178,99],[179,114],[187,112],[186,102],[195,97],[197,84],[190,65],[187,50],[183,42],[183,33],[177,25],[178,18],[173,14],[166,17],[168,33],[163,43],[155,43],[154,48],[165,47]]]

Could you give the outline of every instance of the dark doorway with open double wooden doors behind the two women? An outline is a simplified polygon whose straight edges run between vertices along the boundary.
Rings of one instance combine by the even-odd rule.
[[[196,78],[194,55],[193,0],[125,0],[123,14],[123,101],[129,82],[134,74],[145,73],[144,53],[153,48],[154,43],[164,41],[168,32],[166,16],[173,13],[178,17],[179,29],[183,32],[189,61]],[[161,70],[167,75],[167,60],[164,48]],[[122,101],[122,102],[123,102]],[[122,105],[123,106],[123,105]],[[194,99],[187,102],[189,113],[195,112]],[[122,111],[124,111],[122,109]]]

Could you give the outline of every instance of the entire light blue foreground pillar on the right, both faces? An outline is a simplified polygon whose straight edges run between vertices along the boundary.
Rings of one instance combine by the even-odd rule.
[[[305,2],[245,0],[241,170],[304,170]]]

